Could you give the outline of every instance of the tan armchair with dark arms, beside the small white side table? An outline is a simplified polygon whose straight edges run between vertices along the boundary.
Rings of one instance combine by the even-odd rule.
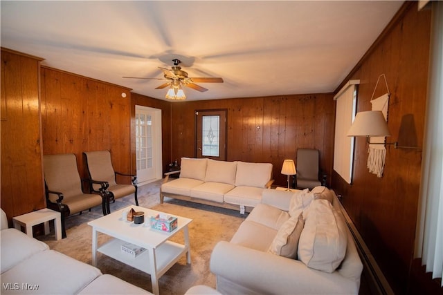
[[[73,153],[44,155],[43,169],[45,181],[46,207],[60,211],[62,217],[62,237],[66,238],[65,218],[75,213],[82,213],[92,207],[102,205],[106,215],[106,185],[96,182],[97,193],[83,193],[82,181],[77,167],[77,158]]]

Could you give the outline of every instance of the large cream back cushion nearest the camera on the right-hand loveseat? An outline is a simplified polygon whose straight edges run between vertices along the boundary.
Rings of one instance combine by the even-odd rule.
[[[323,272],[334,272],[345,257],[347,229],[328,200],[314,200],[305,211],[305,227],[298,242],[298,259]]]

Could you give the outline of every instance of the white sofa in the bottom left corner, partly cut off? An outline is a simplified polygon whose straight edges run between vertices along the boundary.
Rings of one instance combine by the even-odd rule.
[[[1,210],[1,294],[151,294],[17,229]]]

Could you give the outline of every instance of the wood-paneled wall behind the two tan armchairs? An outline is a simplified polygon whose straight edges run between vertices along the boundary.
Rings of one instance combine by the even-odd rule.
[[[129,88],[47,67],[42,67],[41,87],[44,155],[74,153],[80,177],[86,178],[82,152],[109,150],[116,171],[136,173]]]

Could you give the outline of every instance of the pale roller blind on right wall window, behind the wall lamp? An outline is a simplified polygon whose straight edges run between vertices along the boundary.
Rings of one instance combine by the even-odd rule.
[[[334,96],[336,100],[334,170],[347,183],[352,180],[352,160],[354,157],[354,137],[348,137],[356,111],[356,84],[360,80],[350,80]]]

